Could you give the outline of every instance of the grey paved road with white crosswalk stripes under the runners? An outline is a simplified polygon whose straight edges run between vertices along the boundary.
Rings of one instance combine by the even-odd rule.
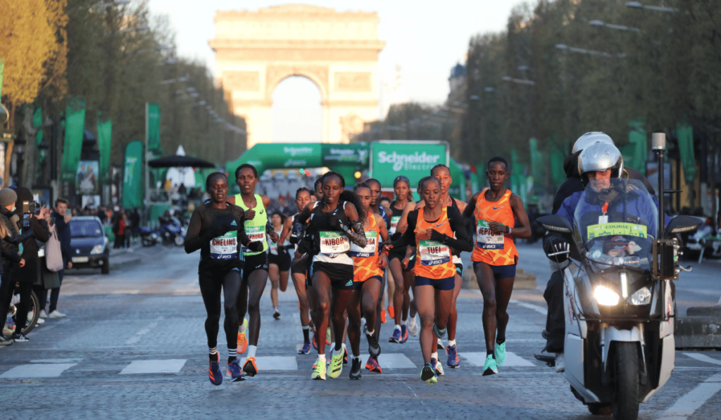
[[[205,310],[197,280],[198,254],[180,248],[136,250],[103,276],[74,272],[63,282],[58,309],[27,343],[0,348],[0,406],[4,419],[268,418],[298,419],[593,419],[561,375],[534,359],[544,345],[549,277],[539,246],[521,246],[521,268],[538,277],[536,290],[517,290],[509,308],[506,365],[482,377],[482,299],[459,298],[461,367],[446,369],[429,387],[417,337],[405,344],[381,340],[383,373],[363,370],[348,380],[310,379],[314,355],[298,355],[302,335],[292,285],[280,294],[273,320],[270,283],[262,298],[257,351],[260,373],[244,382],[208,382]],[[704,262],[678,282],[679,307],[711,305],[721,295],[717,263]],[[222,320],[221,320],[222,322]],[[381,337],[392,333],[386,323]],[[221,328],[218,342],[224,342]],[[363,345],[361,351],[367,356]],[[221,349],[222,354],[222,349]],[[441,359],[444,354],[441,353]],[[365,358],[364,358],[365,359]],[[640,419],[718,419],[721,354],[676,352],[671,380]]]

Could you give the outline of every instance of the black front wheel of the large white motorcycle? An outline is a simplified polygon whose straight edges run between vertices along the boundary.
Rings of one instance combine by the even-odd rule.
[[[638,350],[636,343],[616,342],[616,398],[614,420],[638,419]]]

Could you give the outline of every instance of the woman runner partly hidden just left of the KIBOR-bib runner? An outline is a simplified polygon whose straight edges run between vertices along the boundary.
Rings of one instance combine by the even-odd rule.
[[[311,201],[311,192],[309,189],[303,187],[296,191],[296,206],[298,206],[298,213],[286,219],[286,223],[283,223],[283,232],[280,233],[280,243],[286,241],[289,238],[290,243],[298,245],[298,242],[303,238],[306,226],[303,223],[298,223],[296,218],[303,211],[303,209]],[[291,278],[293,279],[293,286],[296,287],[296,294],[298,295],[298,309],[301,311],[301,329],[303,329],[303,347],[298,350],[298,354],[308,354],[311,351],[310,341],[310,318],[309,318],[309,303],[308,296],[306,295],[306,254],[305,251],[296,251],[293,255],[293,263],[291,265]]]

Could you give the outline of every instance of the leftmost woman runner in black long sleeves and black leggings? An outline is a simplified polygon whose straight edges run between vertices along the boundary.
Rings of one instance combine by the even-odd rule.
[[[226,202],[228,178],[221,172],[213,172],[205,179],[205,190],[211,199],[193,212],[185,237],[185,252],[200,249],[198,277],[200,294],[208,313],[205,318],[205,334],[208,336],[210,367],[208,378],[213,385],[223,382],[218,367],[218,322],[221,318],[221,289],[224,294],[224,329],[228,341],[228,375],[235,381],[245,376],[236,359],[235,331],[238,326],[236,300],[241,285],[243,261],[239,258],[239,243],[249,249],[262,249],[262,243],[250,242],[243,227],[242,208]]]

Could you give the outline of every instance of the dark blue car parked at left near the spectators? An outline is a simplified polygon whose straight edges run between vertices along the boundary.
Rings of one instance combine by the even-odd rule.
[[[110,246],[100,219],[78,216],[70,220],[70,261],[73,268],[97,268],[110,273]]]

